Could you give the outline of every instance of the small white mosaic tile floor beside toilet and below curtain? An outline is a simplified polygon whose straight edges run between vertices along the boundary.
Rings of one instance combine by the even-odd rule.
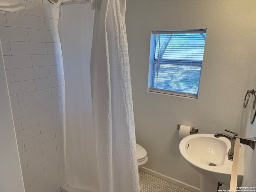
[[[158,177],[152,176],[146,172],[140,172],[140,179],[143,184],[141,192],[191,192],[185,188],[182,188],[178,185],[172,184],[168,181],[162,180]],[[62,186],[62,192],[89,192],[81,189],[74,189]]]

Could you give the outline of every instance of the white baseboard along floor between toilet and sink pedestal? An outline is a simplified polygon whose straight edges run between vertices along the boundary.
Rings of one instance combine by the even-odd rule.
[[[195,187],[193,187],[191,185],[188,185],[188,184],[186,184],[184,182],[181,182],[181,181],[178,181],[176,179],[170,178],[168,176],[162,175],[162,174],[160,174],[158,172],[155,172],[155,171],[152,171],[152,170],[150,170],[148,168],[142,167],[142,168],[140,168],[140,170],[142,170],[142,171],[144,171],[144,172],[146,172],[146,173],[148,173],[150,175],[156,176],[156,177],[158,177],[160,179],[166,180],[166,181],[168,181],[170,183],[173,183],[175,185],[178,185],[180,187],[183,187],[183,188],[185,188],[187,190],[190,190],[192,192],[200,192],[200,189],[198,189],[198,188],[195,188]]]

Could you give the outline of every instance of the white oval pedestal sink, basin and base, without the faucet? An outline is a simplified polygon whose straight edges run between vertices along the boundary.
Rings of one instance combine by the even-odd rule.
[[[230,141],[213,134],[193,134],[180,142],[180,153],[200,173],[200,191],[216,192],[218,182],[230,185],[233,161],[228,160]],[[238,186],[244,174],[244,144],[240,144]]]

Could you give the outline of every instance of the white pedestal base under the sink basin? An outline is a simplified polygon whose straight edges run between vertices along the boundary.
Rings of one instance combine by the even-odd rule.
[[[200,192],[216,192],[219,182],[200,174]]]

